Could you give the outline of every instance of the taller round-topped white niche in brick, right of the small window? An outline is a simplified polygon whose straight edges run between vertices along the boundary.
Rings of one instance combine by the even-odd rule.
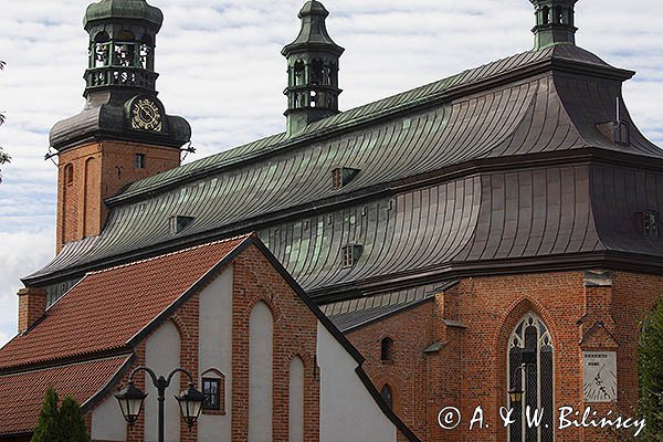
[[[249,320],[249,442],[272,442],[273,323],[257,303]]]

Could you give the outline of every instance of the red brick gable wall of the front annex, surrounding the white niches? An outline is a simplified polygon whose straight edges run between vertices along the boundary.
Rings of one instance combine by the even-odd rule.
[[[316,442],[319,440],[320,413],[320,379],[316,361],[318,319],[254,245],[249,246],[233,261],[233,381],[231,403],[227,404],[232,407],[232,441],[244,442],[248,439],[249,318],[257,302],[264,302],[270,307],[274,320],[273,440],[288,441],[290,364],[293,357],[298,356],[304,364],[304,439],[307,442]],[[168,320],[176,325],[180,334],[180,366],[191,372],[196,378],[197,388],[200,389],[198,316],[199,293],[191,296]],[[118,383],[118,389],[126,386],[129,372],[135,367],[145,364],[145,341],[149,336],[151,335],[135,348],[134,364]],[[180,390],[183,390],[188,380],[183,376],[180,379]],[[136,386],[145,391],[145,377],[137,376],[135,381]],[[109,393],[107,398],[110,397]],[[87,414],[91,415],[92,411]],[[198,440],[197,427],[189,431],[182,420],[180,428],[182,442]],[[144,441],[144,432],[145,413],[141,413],[138,422],[128,429],[127,442]]]

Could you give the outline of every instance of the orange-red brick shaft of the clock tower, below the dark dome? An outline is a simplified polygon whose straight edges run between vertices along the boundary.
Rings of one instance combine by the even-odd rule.
[[[137,154],[145,156],[144,168],[136,167]],[[108,215],[105,199],[127,183],[180,165],[179,149],[112,140],[73,147],[59,157],[57,253],[69,242],[102,232]]]

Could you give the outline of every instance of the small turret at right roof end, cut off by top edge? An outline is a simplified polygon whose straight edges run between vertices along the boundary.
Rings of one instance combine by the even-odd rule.
[[[554,44],[576,44],[575,7],[578,0],[529,0],[534,3],[536,27],[534,49]]]

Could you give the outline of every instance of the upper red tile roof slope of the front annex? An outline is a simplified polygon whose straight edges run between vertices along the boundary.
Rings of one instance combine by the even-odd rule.
[[[249,235],[86,275],[25,335],[0,349],[0,372],[122,351]]]

